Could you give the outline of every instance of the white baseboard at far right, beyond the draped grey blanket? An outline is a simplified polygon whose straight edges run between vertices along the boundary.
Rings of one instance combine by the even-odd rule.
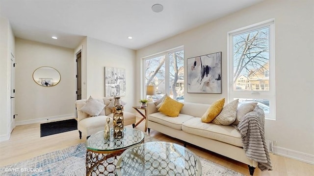
[[[274,154],[314,165],[314,155],[274,146]]]

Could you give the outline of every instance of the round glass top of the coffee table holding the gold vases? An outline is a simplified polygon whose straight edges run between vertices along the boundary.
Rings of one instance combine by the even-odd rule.
[[[105,139],[104,133],[105,131],[101,131],[92,134],[86,141],[87,150],[93,152],[122,150],[143,142],[145,136],[144,132],[131,128],[123,129],[122,138],[115,139],[113,137],[113,129],[110,129],[109,139]]]

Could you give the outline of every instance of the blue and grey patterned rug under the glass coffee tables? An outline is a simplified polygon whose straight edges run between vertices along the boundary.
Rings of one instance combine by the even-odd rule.
[[[156,141],[145,135],[145,142]],[[0,176],[85,176],[84,143],[0,168]],[[202,176],[243,176],[200,157]]]

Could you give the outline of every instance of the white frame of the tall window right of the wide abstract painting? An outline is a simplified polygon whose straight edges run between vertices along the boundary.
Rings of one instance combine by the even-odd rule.
[[[276,102],[275,102],[275,31],[274,31],[275,21],[274,19],[267,20],[264,22],[259,22],[253,25],[249,25],[243,28],[239,28],[228,32],[228,101],[231,102],[237,98],[245,99],[267,99],[269,100],[269,113],[265,114],[265,119],[276,120]],[[234,89],[233,83],[233,36],[247,33],[249,31],[258,30],[264,27],[269,27],[269,85],[266,88],[264,85],[264,90],[236,90]],[[259,85],[260,87],[260,85]]]

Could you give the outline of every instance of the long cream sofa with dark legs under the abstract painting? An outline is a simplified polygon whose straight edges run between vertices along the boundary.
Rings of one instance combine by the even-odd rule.
[[[235,159],[249,166],[253,175],[258,162],[246,157],[242,148],[241,134],[233,126],[201,122],[209,104],[183,103],[178,117],[158,112],[153,102],[147,104],[147,128],[190,143],[209,151]]]

